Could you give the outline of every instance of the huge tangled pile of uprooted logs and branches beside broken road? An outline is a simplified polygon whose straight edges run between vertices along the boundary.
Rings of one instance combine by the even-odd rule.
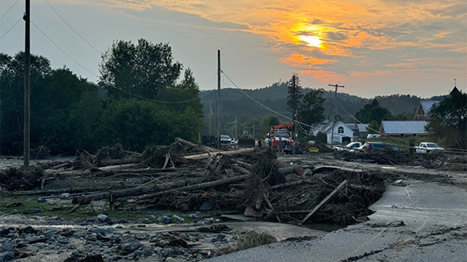
[[[361,222],[384,192],[384,180],[330,168],[323,176],[322,168],[278,161],[271,148],[217,151],[175,139],[142,154],[120,144],[96,155],[80,152],[69,162],[10,168],[0,178],[10,191],[1,194],[67,194],[75,209],[91,211],[96,201],[108,201],[109,208],[125,210],[229,210],[278,222]]]

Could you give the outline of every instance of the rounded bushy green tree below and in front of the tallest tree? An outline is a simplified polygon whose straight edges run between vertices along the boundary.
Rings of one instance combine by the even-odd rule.
[[[109,102],[94,137],[100,146],[120,143],[143,151],[150,144],[171,144],[175,137],[196,141],[200,131],[201,121],[191,107],[180,113],[133,98]]]

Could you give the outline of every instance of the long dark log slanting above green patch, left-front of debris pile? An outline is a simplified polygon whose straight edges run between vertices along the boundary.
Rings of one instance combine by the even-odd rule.
[[[143,185],[138,187],[131,187],[124,190],[116,190],[116,191],[106,191],[106,192],[99,192],[96,194],[89,194],[85,197],[78,199],[78,197],[73,198],[72,203],[80,203],[81,205],[91,203],[94,199],[95,201],[101,199],[110,199],[110,196],[113,199],[120,199],[122,197],[127,196],[140,196],[141,194],[147,194],[148,192],[157,192],[163,190],[170,190],[173,187],[185,187],[187,185],[193,183],[201,183],[203,178],[193,178],[188,180],[178,180],[164,184],[153,184],[153,185]]]

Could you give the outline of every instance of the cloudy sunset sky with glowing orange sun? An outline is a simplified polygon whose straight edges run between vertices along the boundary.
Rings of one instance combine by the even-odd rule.
[[[0,16],[16,0],[0,1]],[[102,52],[113,40],[170,43],[175,61],[193,70],[201,89],[215,88],[217,49],[222,69],[242,88],[288,80],[305,87],[371,98],[394,93],[422,98],[467,86],[465,0],[214,1],[48,0]],[[18,1],[0,21],[3,36],[24,12]],[[43,0],[31,1],[31,52],[95,82],[101,58]],[[0,52],[24,49],[21,20],[0,40]],[[224,82],[229,84],[227,79]],[[227,86],[227,84],[222,84]]]

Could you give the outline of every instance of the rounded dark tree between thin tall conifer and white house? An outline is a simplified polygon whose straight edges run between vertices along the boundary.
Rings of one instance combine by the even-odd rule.
[[[299,105],[298,119],[303,123],[319,123],[324,119],[324,101],[322,91],[312,90],[303,96]]]

